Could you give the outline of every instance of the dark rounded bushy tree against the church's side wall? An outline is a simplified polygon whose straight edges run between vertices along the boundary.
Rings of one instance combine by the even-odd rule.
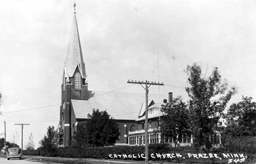
[[[93,109],[92,114],[88,114],[88,121],[79,127],[75,136],[77,145],[82,142],[90,147],[114,145],[120,135],[118,124],[106,110],[100,112]]]

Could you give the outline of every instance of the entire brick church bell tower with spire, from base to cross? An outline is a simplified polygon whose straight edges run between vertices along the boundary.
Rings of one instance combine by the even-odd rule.
[[[75,3],[71,35],[61,85],[62,105],[60,107],[61,127],[59,132],[63,134],[61,144],[64,144],[64,146],[68,146],[72,139],[71,99],[88,100],[88,84],[86,83],[85,63],[79,38]]]

